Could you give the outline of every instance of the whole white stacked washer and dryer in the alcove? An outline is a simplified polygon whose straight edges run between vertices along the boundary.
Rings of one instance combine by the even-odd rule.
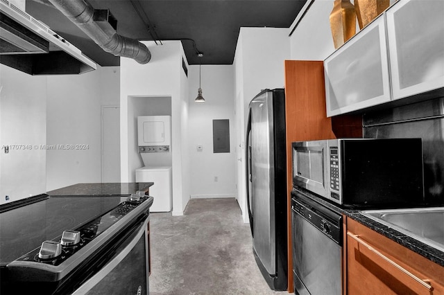
[[[171,183],[171,116],[138,116],[139,154],[144,167],[136,169],[136,182],[153,182],[150,212],[173,209]]]

